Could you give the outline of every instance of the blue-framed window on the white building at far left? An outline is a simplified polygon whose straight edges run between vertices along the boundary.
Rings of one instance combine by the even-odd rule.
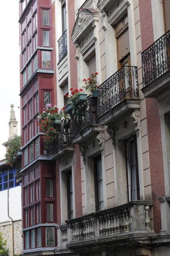
[[[19,182],[15,180],[15,169],[9,169],[9,188],[20,186]],[[8,169],[0,169],[0,191],[8,189]]]

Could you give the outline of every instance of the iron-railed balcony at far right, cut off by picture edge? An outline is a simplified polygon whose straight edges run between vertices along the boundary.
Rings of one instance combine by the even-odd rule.
[[[143,88],[146,98],[170,90],[170,30],[142,52]]]

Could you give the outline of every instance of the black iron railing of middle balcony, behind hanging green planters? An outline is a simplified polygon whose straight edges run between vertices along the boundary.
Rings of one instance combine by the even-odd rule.
[[[76,107],[74,114],[71,116],[71,137],[82,131],[88,125],[96,123],[96,107],[92,95],[87,100]]]

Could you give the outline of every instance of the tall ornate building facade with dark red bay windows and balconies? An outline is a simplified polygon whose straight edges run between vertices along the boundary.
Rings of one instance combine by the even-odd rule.
[[[170,254],[169,7],[20,1],[23,253]],[[38,113],[95,72],[81,122],[46,145]]]

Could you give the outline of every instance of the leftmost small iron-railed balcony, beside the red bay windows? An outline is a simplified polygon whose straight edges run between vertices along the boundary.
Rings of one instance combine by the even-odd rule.
[[[64,120],[61,125],[57,127],[57,137],[48,146],[48,157],[50,160],[61,160],[65,155],[69,155],[74,152],[74,145],[70,140],[70,128],[65,127]]]

